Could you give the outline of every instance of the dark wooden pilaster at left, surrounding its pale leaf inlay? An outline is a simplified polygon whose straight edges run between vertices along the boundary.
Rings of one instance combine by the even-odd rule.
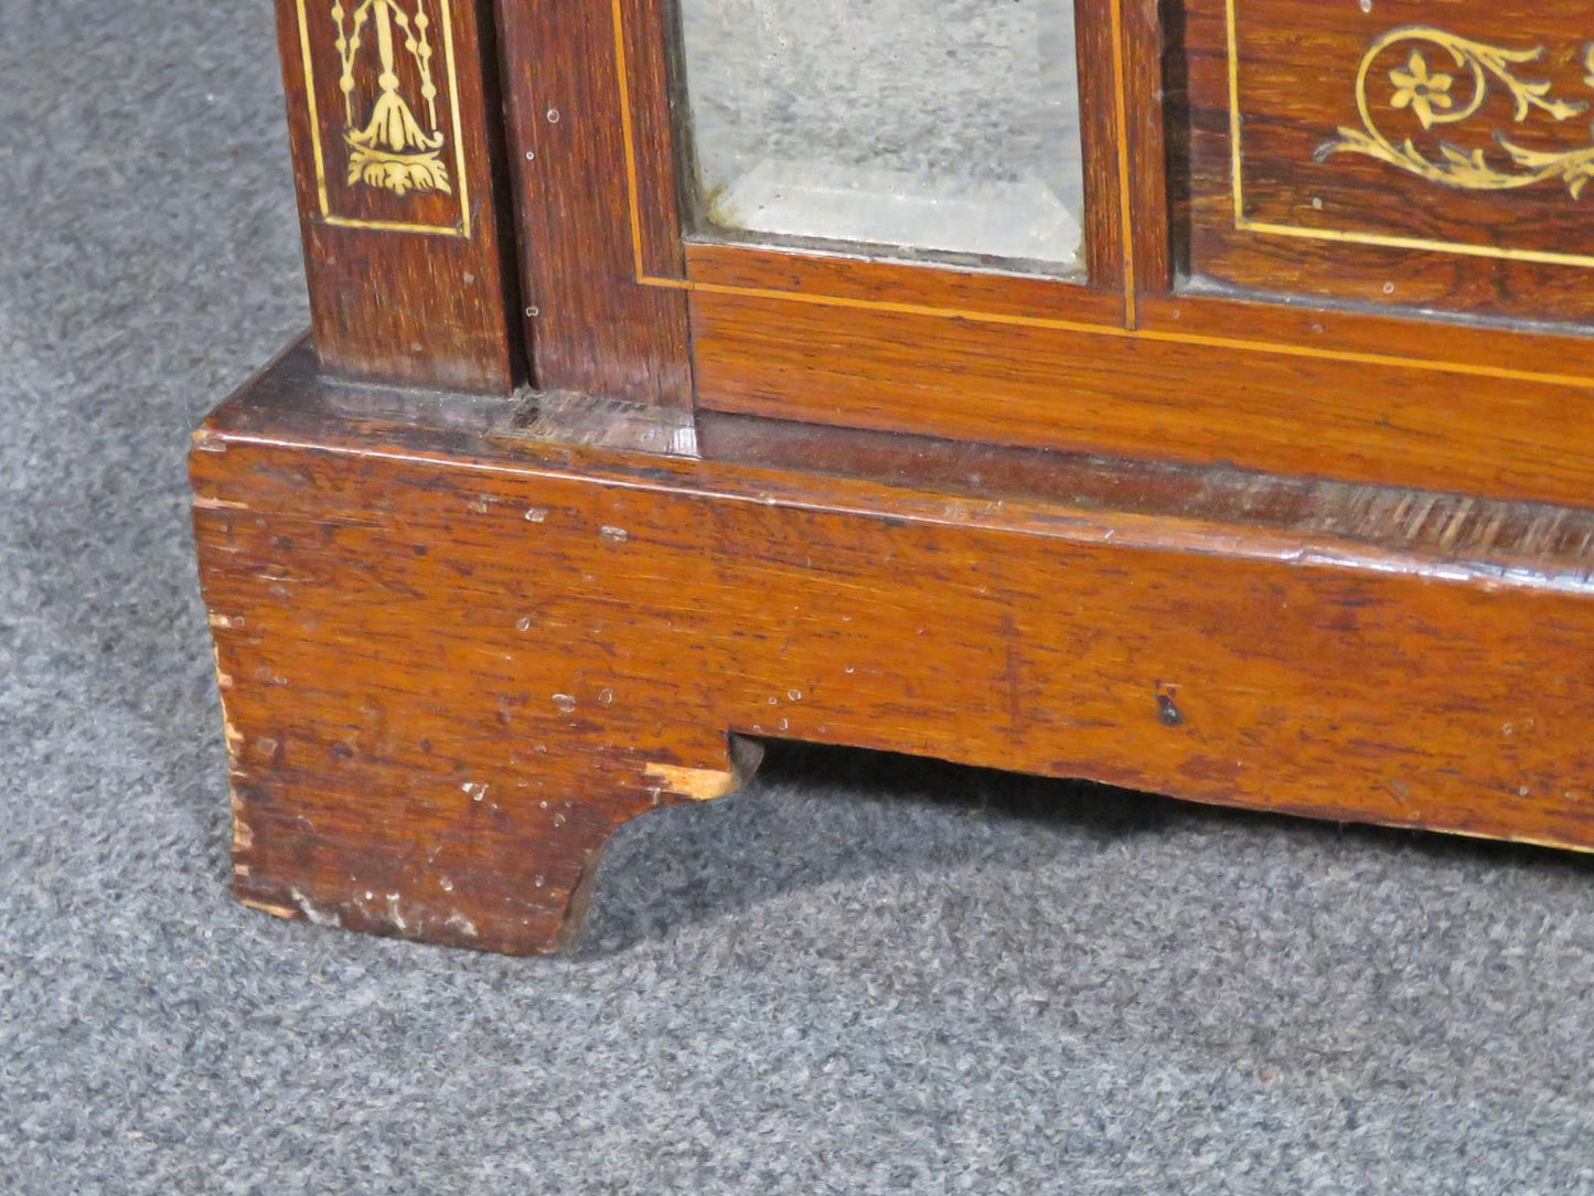
[[[277,33],[322,365],[360,378],[501,394],[513,389],[524,376],[524,348],[512,228],[504,218],[508,193],[486,2],[451,0],[451,72],[443,29],[432,30],[437,123],[445,134],[440,159],[450,190],[402,196],[349,182],[336,29],[328,5],[304,3],[301,30],[300,8],[298,0],[277,0]],[[437,21],[442,10],[434,5],[430,11]],[[355,72],[357,124],[378,94],[370,30],[365,41]],[[419,81],[406,75],[405,83],[416,97]],[[462,140],[454,136],[456,115]],[[340,223],[349,220],[370,226]],[[410,231],[402,226],[406,223],[430,231]]]

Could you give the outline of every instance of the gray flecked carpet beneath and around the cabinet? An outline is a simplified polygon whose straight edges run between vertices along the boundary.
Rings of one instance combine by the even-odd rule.
[[[0,1191],[1594,1191],[1594,864],[846,753],[579,954],[226,891],[183,480],[304,322],[266,0],[0,0]]]

